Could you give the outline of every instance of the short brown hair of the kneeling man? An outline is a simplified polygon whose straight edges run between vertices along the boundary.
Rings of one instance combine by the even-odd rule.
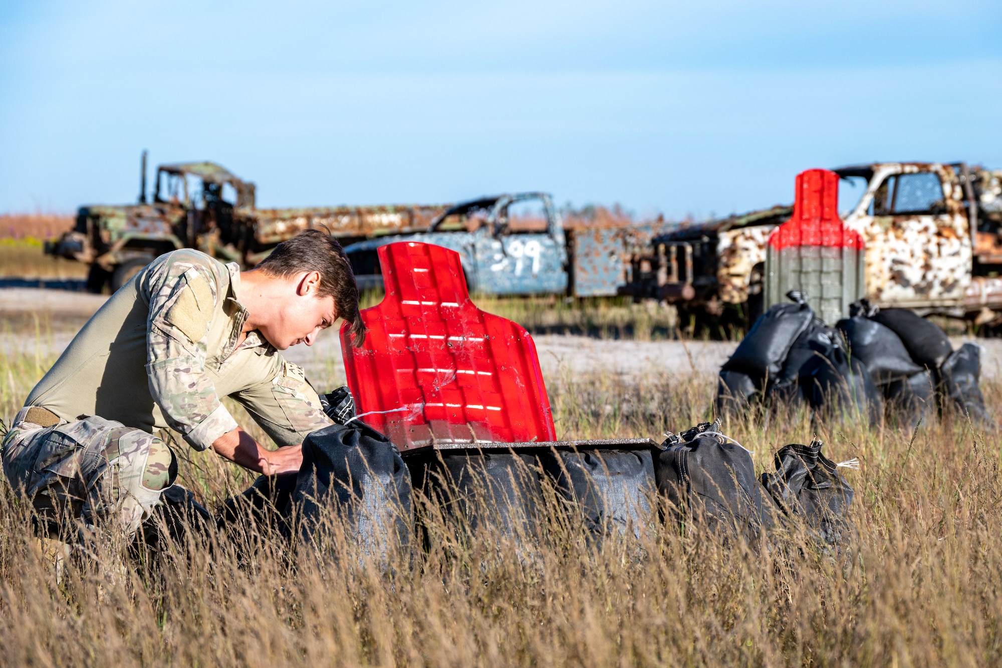
[[[359,313],[359,287],[352,263],[345,249],[331,235],[320,230],[304,230],[275,247],[272,254],[258,263],[269,276],[287,278],[300,272],[320,272],[321,297],[334,297],[338,317],[349,323],[352,345],[366,340],[366,326]]]

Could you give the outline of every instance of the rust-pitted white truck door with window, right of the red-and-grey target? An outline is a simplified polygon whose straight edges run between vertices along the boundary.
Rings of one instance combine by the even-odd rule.
[[[953,169],[875,164],[846,225],[866,245],[866,293],[880,306],[962,306],[971,282],[971,235]]]

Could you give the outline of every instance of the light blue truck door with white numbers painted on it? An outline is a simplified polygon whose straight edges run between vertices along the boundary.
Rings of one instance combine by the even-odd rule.
[[[527,194],[498,201],[476,235],[477,290],[496,295],[560,293],[567,288],[563,228],[550,199]]]

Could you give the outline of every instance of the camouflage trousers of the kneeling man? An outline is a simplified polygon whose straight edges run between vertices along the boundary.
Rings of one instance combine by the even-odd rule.
[[[3,440],[3,471],[50,532],[69,513],[88,525],[116,521],[132,536],[177,475],[153,434],[97,416],[40,426],[27,414],[18,412]]]

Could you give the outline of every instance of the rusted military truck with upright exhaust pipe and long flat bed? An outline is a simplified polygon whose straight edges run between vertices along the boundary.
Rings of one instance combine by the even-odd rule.
[[[302,230],[327,230],[344,245],[393,233],[420,232],[447,206],[258,209],[255,185],[214,162],[179,162],[156,169],[146,195],[146,161],[137,204],[85,206],[73,230],[46,244],[50,255],[90,265],[87,288],[111,291],[154,258],[196,248],[252,267]]]

